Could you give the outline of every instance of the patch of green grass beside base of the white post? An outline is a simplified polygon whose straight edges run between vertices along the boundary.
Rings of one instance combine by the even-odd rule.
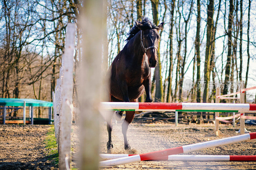
[[[53,125],[51,125],[50,129],[48,130],[44,143],[46,145],[46,153],[49,156],[49,160],[52,160],[55,164],[58,164],[59,163],[58,145],[56,144]]]

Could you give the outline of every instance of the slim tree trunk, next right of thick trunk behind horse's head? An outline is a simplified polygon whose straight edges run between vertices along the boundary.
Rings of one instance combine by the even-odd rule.
[[[171,24],[170,24],[170,33],[169,33],[169,39],[170,39],[170,66],[169,66],[169,73],[168,73],[168,87],[167,87],[167,97],[166,97],[166,102],[171,101],[171,91],[172,91],[172,69],[173,69],[173,64],[172,64],[172,48],[173,48],[173,43],[172,43],[172,38],[173,38],[173,15],[174,15],[174,9],[175,9],[175,0],[172,0],[172,9],[171,9]]]

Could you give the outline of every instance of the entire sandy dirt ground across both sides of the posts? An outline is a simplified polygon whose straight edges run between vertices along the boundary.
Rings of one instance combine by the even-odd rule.
[[[0,125],[0,169],[56,169],[46,154],[44,139],[48,125]],[[77,151],[77,126],[72,126],[72,152]],[[248,130],[256,131],[256,126],[246,125]],[[132,150],[124,148],[121,123],[113,127],[112,153],[140,154],[194,144],[223,137],[207,136],[213,133],[213,124],[174,126],[172,123],[131,123],[128,139]],[[237,135],[238,128],[221,125],[220,130],[227,136]],[[106,123],[101,123],[100,153],[107,153],[108,133]],[[219,146],[186,154],[206,155],[256,155],[255,140]],[[71,164],[76,167],[76,163]],[[143,161],[102,169],[256,169],[255,162],[181,162],[181,161]]]

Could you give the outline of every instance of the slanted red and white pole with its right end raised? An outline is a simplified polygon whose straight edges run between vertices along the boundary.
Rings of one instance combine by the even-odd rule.
[[[243,142],[243,141],[247,141],[247,140],[251,140],[251,139],[255,139],[255,138],[256,138],[256,132],[247,133],[244,135],[227,137],[227,138],[223,138],[223,139],[201,142],[201,143],[197,143],[197,144],[189,144],[189,145],[165,149],[165,150],[161,150],[161,151],[143,153],[143,154],[139,154],[139,155],[132,155],[132,156],[124,157],[124,158],[105,160],[105,161],[100,162],[100,166],[116,166],[116,165],[138,162],[138,161],[143,161],[143,160],[156,159],[156,158],[164,157],[164,156],[168,156],[168,155],[197,151],[197,150],[201,150],[201,149],[207,149],[207,148],[222,146],[222,145],[226,145],[226,144],[233,144],[233,143]]]

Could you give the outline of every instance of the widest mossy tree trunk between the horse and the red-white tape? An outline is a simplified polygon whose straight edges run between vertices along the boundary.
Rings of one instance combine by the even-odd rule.
[[[213,13],[214,13],[214,0],[209,0],[207,7],[207,34],[206,34],[206,51],[204,62],[204,94],[203,102],[208,102],[209,83],[210,83],[210,59],[212,52],[212,36],[213,36]]]

